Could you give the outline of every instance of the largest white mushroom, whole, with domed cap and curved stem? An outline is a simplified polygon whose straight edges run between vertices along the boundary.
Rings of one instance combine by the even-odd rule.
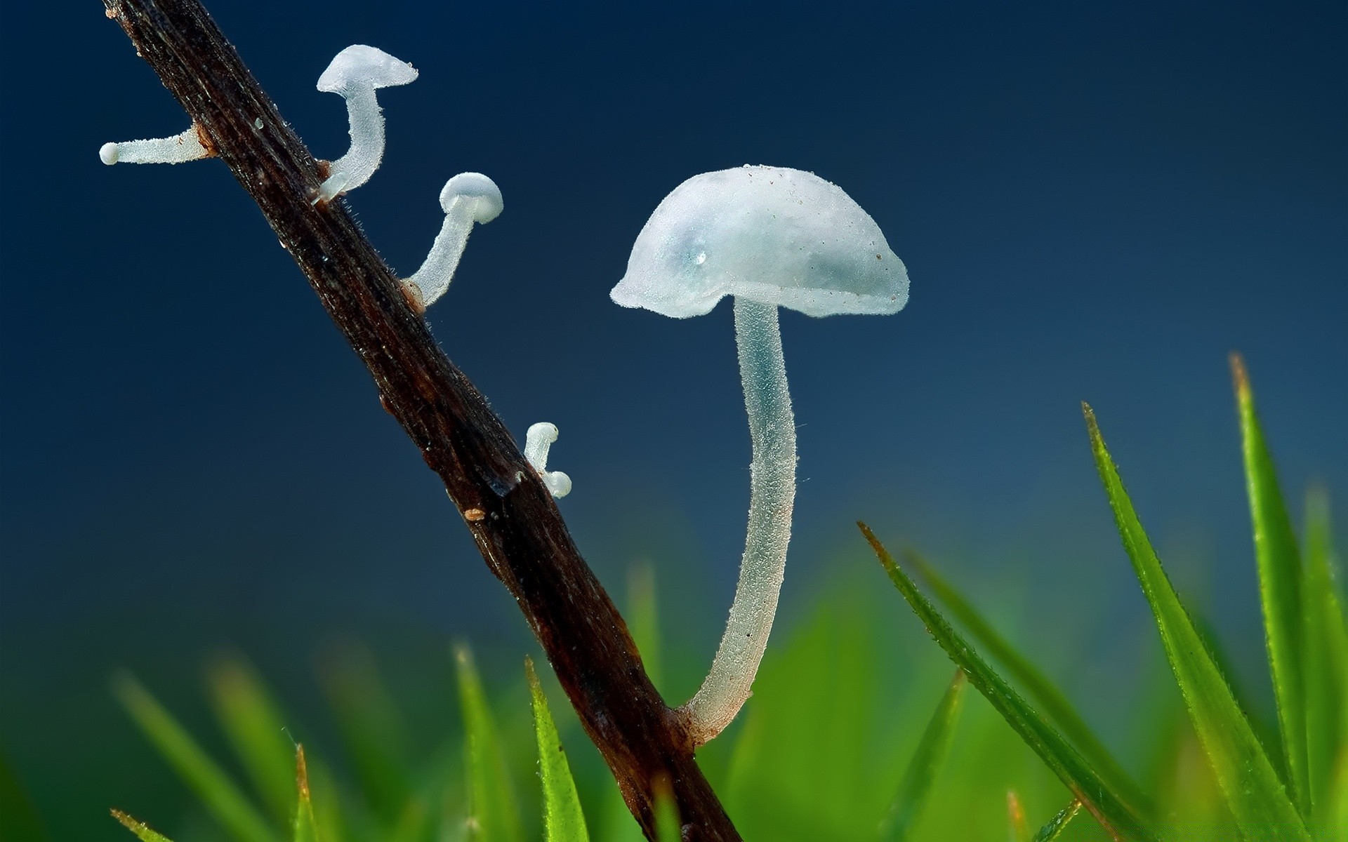
[[[702,687],[678,710],[693,744],[702,745],[749,697],[791,539],[795,418],[776,309],[896,313],[907,303],[909,275],[875,220],[836,185],[801,170],[744,166],[696,175],[669,194],[609,295],[671,318],[702,315],[735,296],[754,443],[749,519],[725,633]]]

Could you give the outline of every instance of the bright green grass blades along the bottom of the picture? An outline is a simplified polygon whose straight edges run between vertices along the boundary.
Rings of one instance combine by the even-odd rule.
[[[1329,503],[1322,490],[1310,493],[1298,542],[1250,379],[1239,358],[1232,368],[1275,734],[1260,741],[1247,701],[1215,656],[1217,641],[1173,587],[1085,407],[1104,503],[1153,612],[1166,656],[1158,670],[1169,670],[1163,680],[1140,683],[1135,703],[1151,711],[1146,733],[1128,745],[1101,738],[1049,672],[934,563],[911,548],[900,563],[861,524],[954,676],[895,610],[896,600],[882,601],[874,579],[820,600],[807,622],[774,641],[741,721],[700,756],[744,837],[1348,842],[1348,630]],[[652,667],[663,670],[655,605],[654,578],[636,571],[628,618]],[[1051,624],[1047,608],[1041,621]],[[520,686],[489,688],[466,647],[454,661],[462,738],[423,746],[421,760],[367,656],[329,671],[350,758],[342,777],[290,742],[282,707],[237,656],[210,667],[208,688],[231,761],[202,749],[135,679],[123,676],[115,688],[222,839],[640,838],[601,764],[570,763],[565,749],[584,754],[589,746],[569,709],[554,718],[546,671],[539,676],[526,661]],[[1136,749],[1143,742],[1148,752]],[[113,816],[140,839],[166,839],[125,814]],[[673,804],[662,800],[656,816],[659,838],[678,839]]]

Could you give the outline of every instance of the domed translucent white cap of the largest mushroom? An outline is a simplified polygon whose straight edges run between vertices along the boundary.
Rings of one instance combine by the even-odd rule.
[[[888,314],[909,273],[880,228],[837,185],[786,167],[694,175],[659,203],[609,296],[671,318],[725,295],[806,315]]]

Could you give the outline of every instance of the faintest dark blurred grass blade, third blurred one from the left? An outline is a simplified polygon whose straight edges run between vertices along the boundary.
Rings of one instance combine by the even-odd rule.
[[[392,694],[364,647],[336,653],[322,678],[360,789],[380,822],[392,826],[412,795],[407,730]]]

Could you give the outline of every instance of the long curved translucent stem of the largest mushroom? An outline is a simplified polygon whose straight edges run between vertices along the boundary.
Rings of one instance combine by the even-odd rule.
[[[735,339],[754,441],[749,525],[735,602],[712,670],[697,694],[678,709],[694,746],[720,734],[751,695],[776,614],[795,503],[795,416],[776,306],[736,296]]]

